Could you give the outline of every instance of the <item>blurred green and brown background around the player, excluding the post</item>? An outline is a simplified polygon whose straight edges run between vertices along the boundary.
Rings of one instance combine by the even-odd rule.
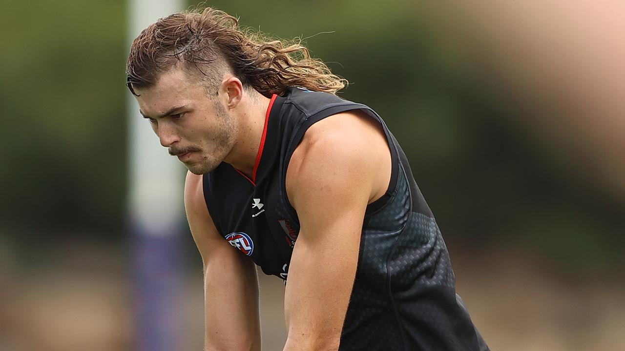
[[[549,16],[564,2],[496,4],[207,2],[245,26],[301,37],[349,80],[341,97],[386,120],[491,349],[623,349],[625,115],[622,100],[600,99],[621,96],[622,72],[584,84],[612,61],[566,30],[586,22]],[[0,350],[132,350],[128,5],[0,9]],[[184,240],[185,349],[199,349],[201,262]],[[264,306],[266,349],[277,350],[280,303]]]

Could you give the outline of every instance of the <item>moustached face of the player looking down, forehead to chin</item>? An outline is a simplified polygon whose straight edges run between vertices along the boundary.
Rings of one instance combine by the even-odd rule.
[[[135,92],[139,111],[161,145],[192,173],[212,171],[232,151],[237,133],[234,116],[186,72],[164,72],[153,87]]]

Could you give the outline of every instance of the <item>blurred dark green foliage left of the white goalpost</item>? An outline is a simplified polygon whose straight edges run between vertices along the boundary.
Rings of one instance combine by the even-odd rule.
[[[3,2],[0,222],[117,231],[124,209],[124,1]]]

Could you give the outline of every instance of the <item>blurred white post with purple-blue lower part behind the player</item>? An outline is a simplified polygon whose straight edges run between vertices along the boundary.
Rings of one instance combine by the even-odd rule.
[[[182,0],[131,0],[128,47],[159,17],[181,11]],[[134,306],[139,351],[179,350],[183,223],[183,175],[178,160],[159,145],[128,94],[129,232],[134,272]]]

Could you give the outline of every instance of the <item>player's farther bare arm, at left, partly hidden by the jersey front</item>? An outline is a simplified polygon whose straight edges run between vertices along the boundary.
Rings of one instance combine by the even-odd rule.
[[[187,173],[184,205],[204,262],[204,350],[260,350],[258,280],[254,262],[217,232],[202,190],[202,176]]]

